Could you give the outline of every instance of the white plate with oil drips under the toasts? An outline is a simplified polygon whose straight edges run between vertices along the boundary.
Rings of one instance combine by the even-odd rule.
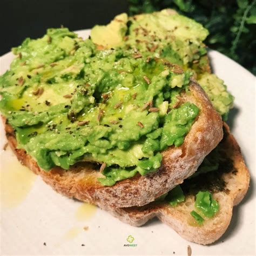
[[[89,33],[78,31],[84,38]],[[12,53],[1,57],[1,74],[13,57]],[[219,241],[210,246],[193,244],[158,220],[132,227],[99,208],[60,196],[22,167],[9,149],[2,150],[6,140],[1,123],[1,255],[186,255],[187,245],[192,255],[255,255],[255,78],[217,51],[210,51],[210,57],[214,72],[235,96],[230,125],[252,176],[250,190],[234,207],[231,224]],[[124,246],[128,235],[137,247]]]

